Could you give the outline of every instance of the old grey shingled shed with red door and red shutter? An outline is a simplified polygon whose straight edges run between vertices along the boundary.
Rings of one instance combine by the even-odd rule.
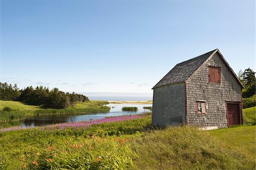
[[[243,85],[218,49],[175,65],[152,89],[153,126],[243,123]]]

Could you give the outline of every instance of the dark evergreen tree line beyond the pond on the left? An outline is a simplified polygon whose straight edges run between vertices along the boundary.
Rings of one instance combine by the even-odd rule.
[[[36,105],[52,109],[66,109],[74,106],[76,102],[89,101],[88,97],[77,93],[61,92],[57,88],[49,89],[43,86],[33,88],[29,86],[19,89],[16,84],[0,82],[0,100],[20,101],[28,105]]]

